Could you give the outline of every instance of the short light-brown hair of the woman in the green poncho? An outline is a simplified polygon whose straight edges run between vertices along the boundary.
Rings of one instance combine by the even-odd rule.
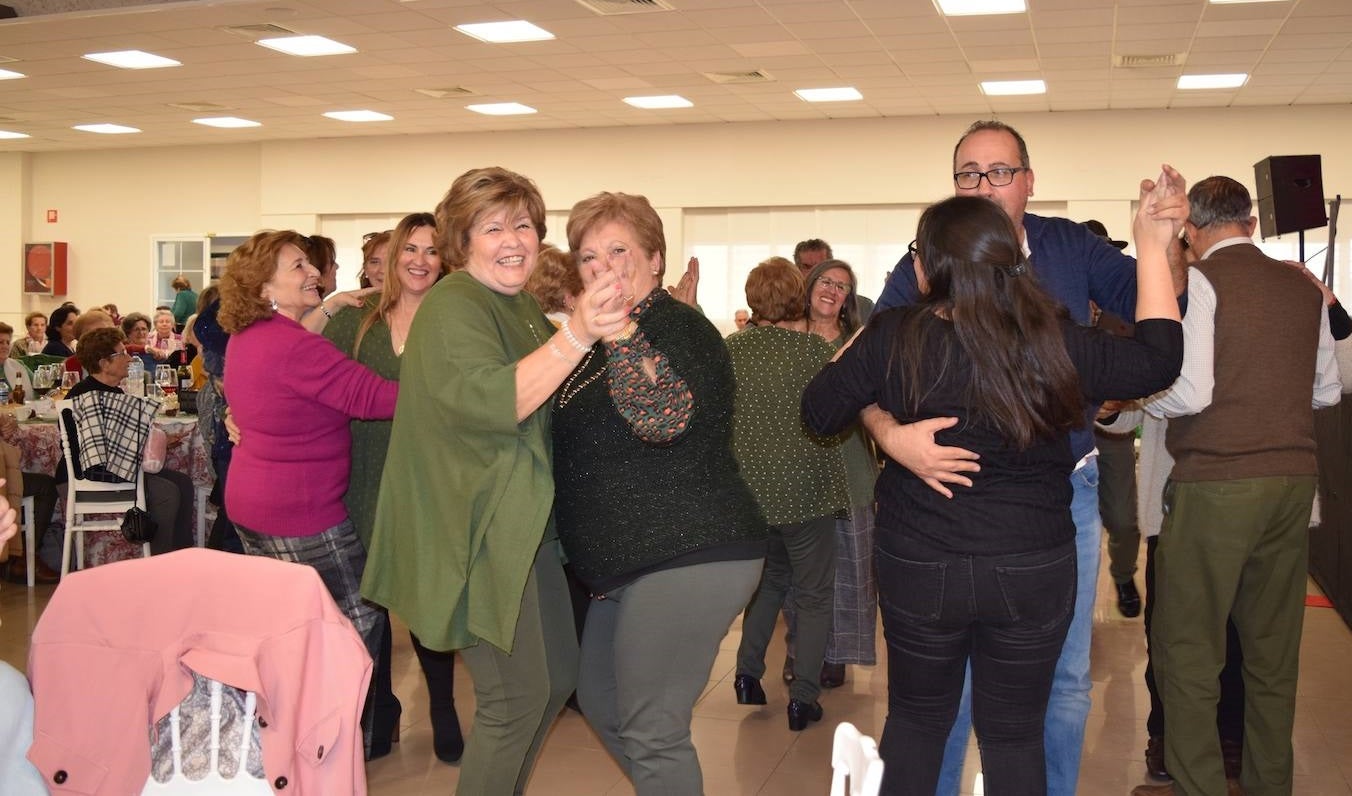
[[[502,166],[470,169],[456,177],[446,196],[437,204],[437,250],[446,268],[465,268],[475,220],[484,211],[496,207],[525,209],[535,224],[535,234],[545,238],[545,200],[530,177]],[[388,262],[385,268],[389,268]]]

